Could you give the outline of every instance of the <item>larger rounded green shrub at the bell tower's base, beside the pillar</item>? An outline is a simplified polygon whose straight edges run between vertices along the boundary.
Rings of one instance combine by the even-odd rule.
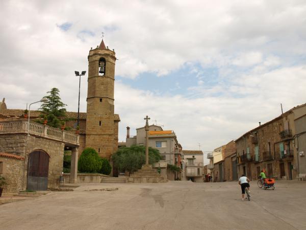
[[[78,169],[80,172],[99,172],[101,164],[98,153],[93,148],[86,148],[79,158]]]

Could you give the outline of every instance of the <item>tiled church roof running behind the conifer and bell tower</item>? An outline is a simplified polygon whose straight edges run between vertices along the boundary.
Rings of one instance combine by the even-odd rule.
[[[23,109],[4,109],[0,115],[6,116],[6,117],[22,117],[24,113]],[[41,111],[39,110],[31,110],[30,111],[30,117],[31,118],[38,118],[41,114]],[[67,118],[71,119],[77,119],[78,118],[78,112],[66,112]],[[86,120],[86,112],[80,112],[80,119]],[[119,122],[120,117],[119,114],[114,114],[114,121]]]

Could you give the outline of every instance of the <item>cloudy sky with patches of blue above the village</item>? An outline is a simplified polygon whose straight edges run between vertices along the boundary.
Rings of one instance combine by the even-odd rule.
[[[57,87],[78,110],[87,55],[116,52],[119,141],[145,124],[204,152],[306,102],[306,2],[1,1],[0,97],[25,109]],[[86,112],[87,75],[80,110]],[[37,109],[39,104],[33,105]]]

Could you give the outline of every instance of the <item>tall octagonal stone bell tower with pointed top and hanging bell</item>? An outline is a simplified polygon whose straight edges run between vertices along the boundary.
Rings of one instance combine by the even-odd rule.
[[[99,156],[110,158],[114,153],[114,83],[115,52],[105,47],[91,49],[88,55],[88,91],[86,147]]]

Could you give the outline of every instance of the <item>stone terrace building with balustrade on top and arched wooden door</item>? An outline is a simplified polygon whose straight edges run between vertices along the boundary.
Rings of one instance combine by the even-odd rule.
[[[65,147],[72,150],[70,182],[75,182],[79,135],[31,122],[28,127],[25,120],[0,122],[0,158],[10,157],[0,159],[2,173],[10,181],[4,192],[57,188]]]

